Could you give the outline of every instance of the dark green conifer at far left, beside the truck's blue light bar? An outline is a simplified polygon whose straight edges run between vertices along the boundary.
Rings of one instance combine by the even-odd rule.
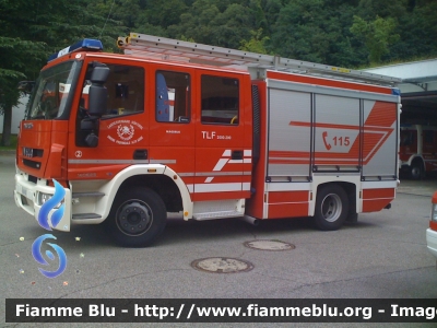
[[[96,3],[98,1],[94,1]],[[111,39],[119,24],[84,10],[84,0],[2,0],[0,2],[0,108],[4,114],[2,145],[10,144],[12,107],[17,104],[17,82],[36,79],[48,55],[84,37]],[[105,34],[102,27],[106,25]]]

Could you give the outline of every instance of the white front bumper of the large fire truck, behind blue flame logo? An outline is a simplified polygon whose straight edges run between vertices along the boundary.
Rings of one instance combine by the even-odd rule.
[[[51,224],[51,215],[57,211],[57,209],[51,209],[48,213],[48,218],[44,218],[44,220],[48,221],[48,224],[51,229],[58,231],[70,231],[71,225],[71,191],[68,188],[63,188],[66,191],[66,196],[63,198],[64,203],[64,212],[60,222],[52,226]],[[36,184],[29,181],[28,175],[17,171],[15,174],[15,190],[14,190],[14,200],[15,204],[33,215],[35,220],[38,222],[39,211],[43,207],[43,203],[39,203],[38,195],[39,194],[54,195],[55,187],[47,186],[46,179],[37,179]]]

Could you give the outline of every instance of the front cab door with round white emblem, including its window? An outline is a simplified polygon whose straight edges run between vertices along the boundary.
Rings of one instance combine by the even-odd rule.
[[[107,107],[99,119],[90,120],[86,113],[88,82],[84,80],[76,114],[75,144],[69,148],[69,179],[110,179],[123,167],[149,161],[149,120],[144,116],[145,70],[142,67],[103,62],[109,68],[104,86]],[[94,145],[90,134],[98,137]]]

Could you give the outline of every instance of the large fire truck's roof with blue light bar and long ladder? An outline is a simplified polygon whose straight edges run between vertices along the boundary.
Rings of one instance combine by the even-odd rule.
[[[130,33],[117,40],[122,54],[103,51],[99,40],[83,39],[50,56],[47,67],[56,62],[85,57],[138,60],[151,63],[185,66],[196,69],[217,70],[222,72],[250,73],[252,79],[267,79],[268,71],[284,74],[322,78],[368,85],[386,86],[399,94],[395,84],[402,79],[339,68],[328,65],[281,58],[280,56],[256,54],[190,42],[163,38],[146,34]]]

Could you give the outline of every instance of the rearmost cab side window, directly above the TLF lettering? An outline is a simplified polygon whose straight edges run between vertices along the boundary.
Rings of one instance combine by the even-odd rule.
[[[239,83],[237,79],[202,75],[202,124],[237,125]]]

